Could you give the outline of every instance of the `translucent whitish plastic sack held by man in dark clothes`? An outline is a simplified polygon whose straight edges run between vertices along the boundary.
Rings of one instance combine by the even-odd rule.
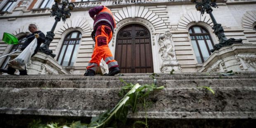
[[[35,38],[20,54],[18,57],[8,63],[8,66],[18,69],[25,70],[26,64],[29,62],[37,46],[37,38]]]

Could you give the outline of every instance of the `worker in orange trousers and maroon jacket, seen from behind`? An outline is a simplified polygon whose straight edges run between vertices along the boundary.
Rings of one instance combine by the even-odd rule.
[[[100,66],[101,59],[108,65],[109,73],[107,76],[114,76],[120,72],[120,69],[108,46],[114,28],[116,28],[113,14],[106,6],[93,7],[89,10],[89,14],[94,20],[91,36],[95,41],[95,48],[84,76],[94,76],[97,67]]]

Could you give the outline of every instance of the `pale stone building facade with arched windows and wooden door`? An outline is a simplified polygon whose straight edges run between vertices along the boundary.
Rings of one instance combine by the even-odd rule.
[[[175,72],[203,71],[201,67],[209,61],[209,50],[218,43],[209,14],[201,15],[190,0],[69,2],[74,3],[75,9],[69,19],[57,24],[49,48],[56,54],[54,60],[71,74],[83,74],[91,59],[93,20],[88,10],[95,6],[109,7],[116,19],[109,48],[122,73],[167,73],[172,69]],[[55,21],[50,17],[53,3],[54,0],[0,0],[0,39],[4,32],[24,38],[29,33],[29,24],[36,24],[46,35]],[[217,0],[217,5],[213,15],[222,24],[226,37],[241,38],[244,44],[255,46],[256,0]],[[0,40],[0,56],[14,49],[15,46]],[[256,69],[253,50],[250,49],[247,55],[252,58],[248,62],[252,65],[250,71]],[[7,59],[0,59],[1,68],[5,68]],[[102,72],[107,73],[104,61],[100,65]]]

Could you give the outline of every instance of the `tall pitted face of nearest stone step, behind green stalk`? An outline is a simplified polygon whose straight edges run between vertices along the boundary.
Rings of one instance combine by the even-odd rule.
[[[148,101],[150,119],[256,119],[256,87],[166,88]],[[0,114],[96,116],[121,99],[120,89],[0,88]],[[143,118],[143,109],[130,118]]]

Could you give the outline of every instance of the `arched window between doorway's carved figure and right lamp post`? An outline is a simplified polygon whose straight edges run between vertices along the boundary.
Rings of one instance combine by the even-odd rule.
[[[209,32],[201,26],[192,26],[189,29],[191,43],[194,48],[198,63],[204,63],[211,55],[213,42]]]

